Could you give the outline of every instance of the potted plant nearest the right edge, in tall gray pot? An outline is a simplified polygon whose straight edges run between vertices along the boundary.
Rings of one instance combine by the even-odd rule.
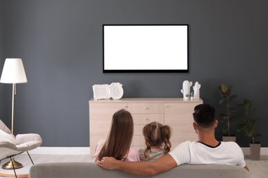
[[[252,142],[249,143],[250,157],[252,160],[260,160],[260,142],[256,142],[256,138],[261,136],[259,133],[256,133],[256,121],[260,118],[252,116],[255,111],[255,108],[252,108],[252,101],[244,99],[241,107],[243,107],[244,112],[237,130],[244,131],[244,136],[252,138]]]

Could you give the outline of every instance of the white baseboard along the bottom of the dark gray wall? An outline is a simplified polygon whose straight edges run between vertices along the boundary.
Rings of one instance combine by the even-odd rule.
[[[244,155],[249,155],[249,147],[243,147],[242,151]],[[90,149],[89,147],[38,147],[29,153],[36,155],[90,155]],[[268,155],[268,147],[260,148],[260,155]]]

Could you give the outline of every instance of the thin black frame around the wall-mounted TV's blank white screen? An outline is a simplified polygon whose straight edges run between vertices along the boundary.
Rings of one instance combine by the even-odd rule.
[[[187,44],[186,44],[186,55],[187,55],[187,68],[170,68],[170,69],[161,69],[161,68],[153,68],[153,69],[120,69],[120,68],[115,68],[115,69],[107,69],[105,68],[105,58],[104,58],[104,53],[105,53],[105,49],[104,49],[104,42],[105,42],[105,36],[104,36],[104,32],[105,32],[105,27],[108,26],[115,26],[115,27],[119,27],[119,26],[148,26],[148,27],[152,27],[152,26],[183,26],[186,27],[186,36],[187,36]],[[184,44],[184,43],[183,43]],[[185,51],[184,51],[185,52]],[[127,24],[127,25],[120,25],[120,24],[103,24],[102,25],[102,72],[103,73],[189,73],[189,25],[188,24],[151,24],[151,25],[136,25],[136,24]]]

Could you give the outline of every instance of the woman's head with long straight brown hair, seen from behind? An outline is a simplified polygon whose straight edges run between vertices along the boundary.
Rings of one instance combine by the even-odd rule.
[[[131,147],[133,130],[134,124],[131,113],[124,109],[115,112],[98,159],[102,160],[104,156],[112,156],[117,160],[124,159]]]

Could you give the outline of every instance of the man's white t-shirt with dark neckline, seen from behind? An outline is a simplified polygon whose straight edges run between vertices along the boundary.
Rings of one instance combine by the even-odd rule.
[[[210,147],[201,142],[182,142],[169,153],[181,164],[230,164],[245,167],[244,155],[236,142],[219,142]]]

